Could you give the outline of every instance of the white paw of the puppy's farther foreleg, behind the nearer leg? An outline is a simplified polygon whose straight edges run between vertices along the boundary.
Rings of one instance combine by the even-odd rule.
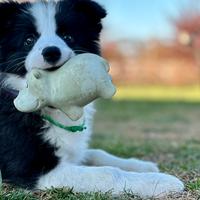
[[[126,164],[123,169],[133,172],[159,172],[159,168],[156,163],[137,160],[134,158],[126,160]]]

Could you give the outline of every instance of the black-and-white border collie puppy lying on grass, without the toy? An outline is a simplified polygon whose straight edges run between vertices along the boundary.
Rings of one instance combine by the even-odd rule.
[[[62,112],[45,108],[21,113],[13,105],[34,68],[54,70],[72,56],[100,54],[102,6],[92,0],[0,3],[0,170],[3,181],[26,189],[73,187],[77,192],[120,194],[124,189],[142,196],[180,192],[177,178],[158,172],[154,163],[123,159],[88,149],[94,109],[71,121]],[[46,114],[77,133],[42,117]]]

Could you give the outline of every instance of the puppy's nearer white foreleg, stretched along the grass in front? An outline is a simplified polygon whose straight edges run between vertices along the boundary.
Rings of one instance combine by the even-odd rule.
[[[161,173],[125,172],[113,167],[59,165],[43,175],[37,189],[70,187],[76,192],[131,191],[140,197],[164,196],[181,192],[183,183],[174,176]]]

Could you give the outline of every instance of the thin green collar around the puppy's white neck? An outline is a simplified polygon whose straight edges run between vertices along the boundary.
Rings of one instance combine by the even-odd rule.
[[[53,124],[54,126],[57,126],[57,127],[61,128],[61,129],[64,129],[64,130],[72,132],[72,133],[83,132],[86,129],[85,122],[83,122],[83,124],[80,125],[80,126],[65,126],[65,125],[55,121],[49,115],[42,115],[42,118],[44,120],[48,121],[49,123]]]

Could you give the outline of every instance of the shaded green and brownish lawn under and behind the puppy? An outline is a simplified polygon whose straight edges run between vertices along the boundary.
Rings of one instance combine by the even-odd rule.
[[[135,88],[132,90],[135,91]],[[194,92],[196,89],[193,91],[195,95],[184,98],[184,101],[175,97],[173,100],[164,99],[159,95],[157,99],[139,100],[138,97],[134,100],[127,91],[121,91],[114,101],[97,102],[91,146],[125,158],[155,161],[162,171],[181,178],[186,191],[181,195],[166,197],[166,200],[200,199],[200,101],[199,94]],[[188,92],[193,93],[189,89]],[[127,100],[124,100],[125,96]],[[110,192],[83,194],[75,193],[72,189],[29,193],[4,185],[0,190],[0,200],[15,199],[111,200],[113,197]],[[115,199],[139,200],[126,192]]]

